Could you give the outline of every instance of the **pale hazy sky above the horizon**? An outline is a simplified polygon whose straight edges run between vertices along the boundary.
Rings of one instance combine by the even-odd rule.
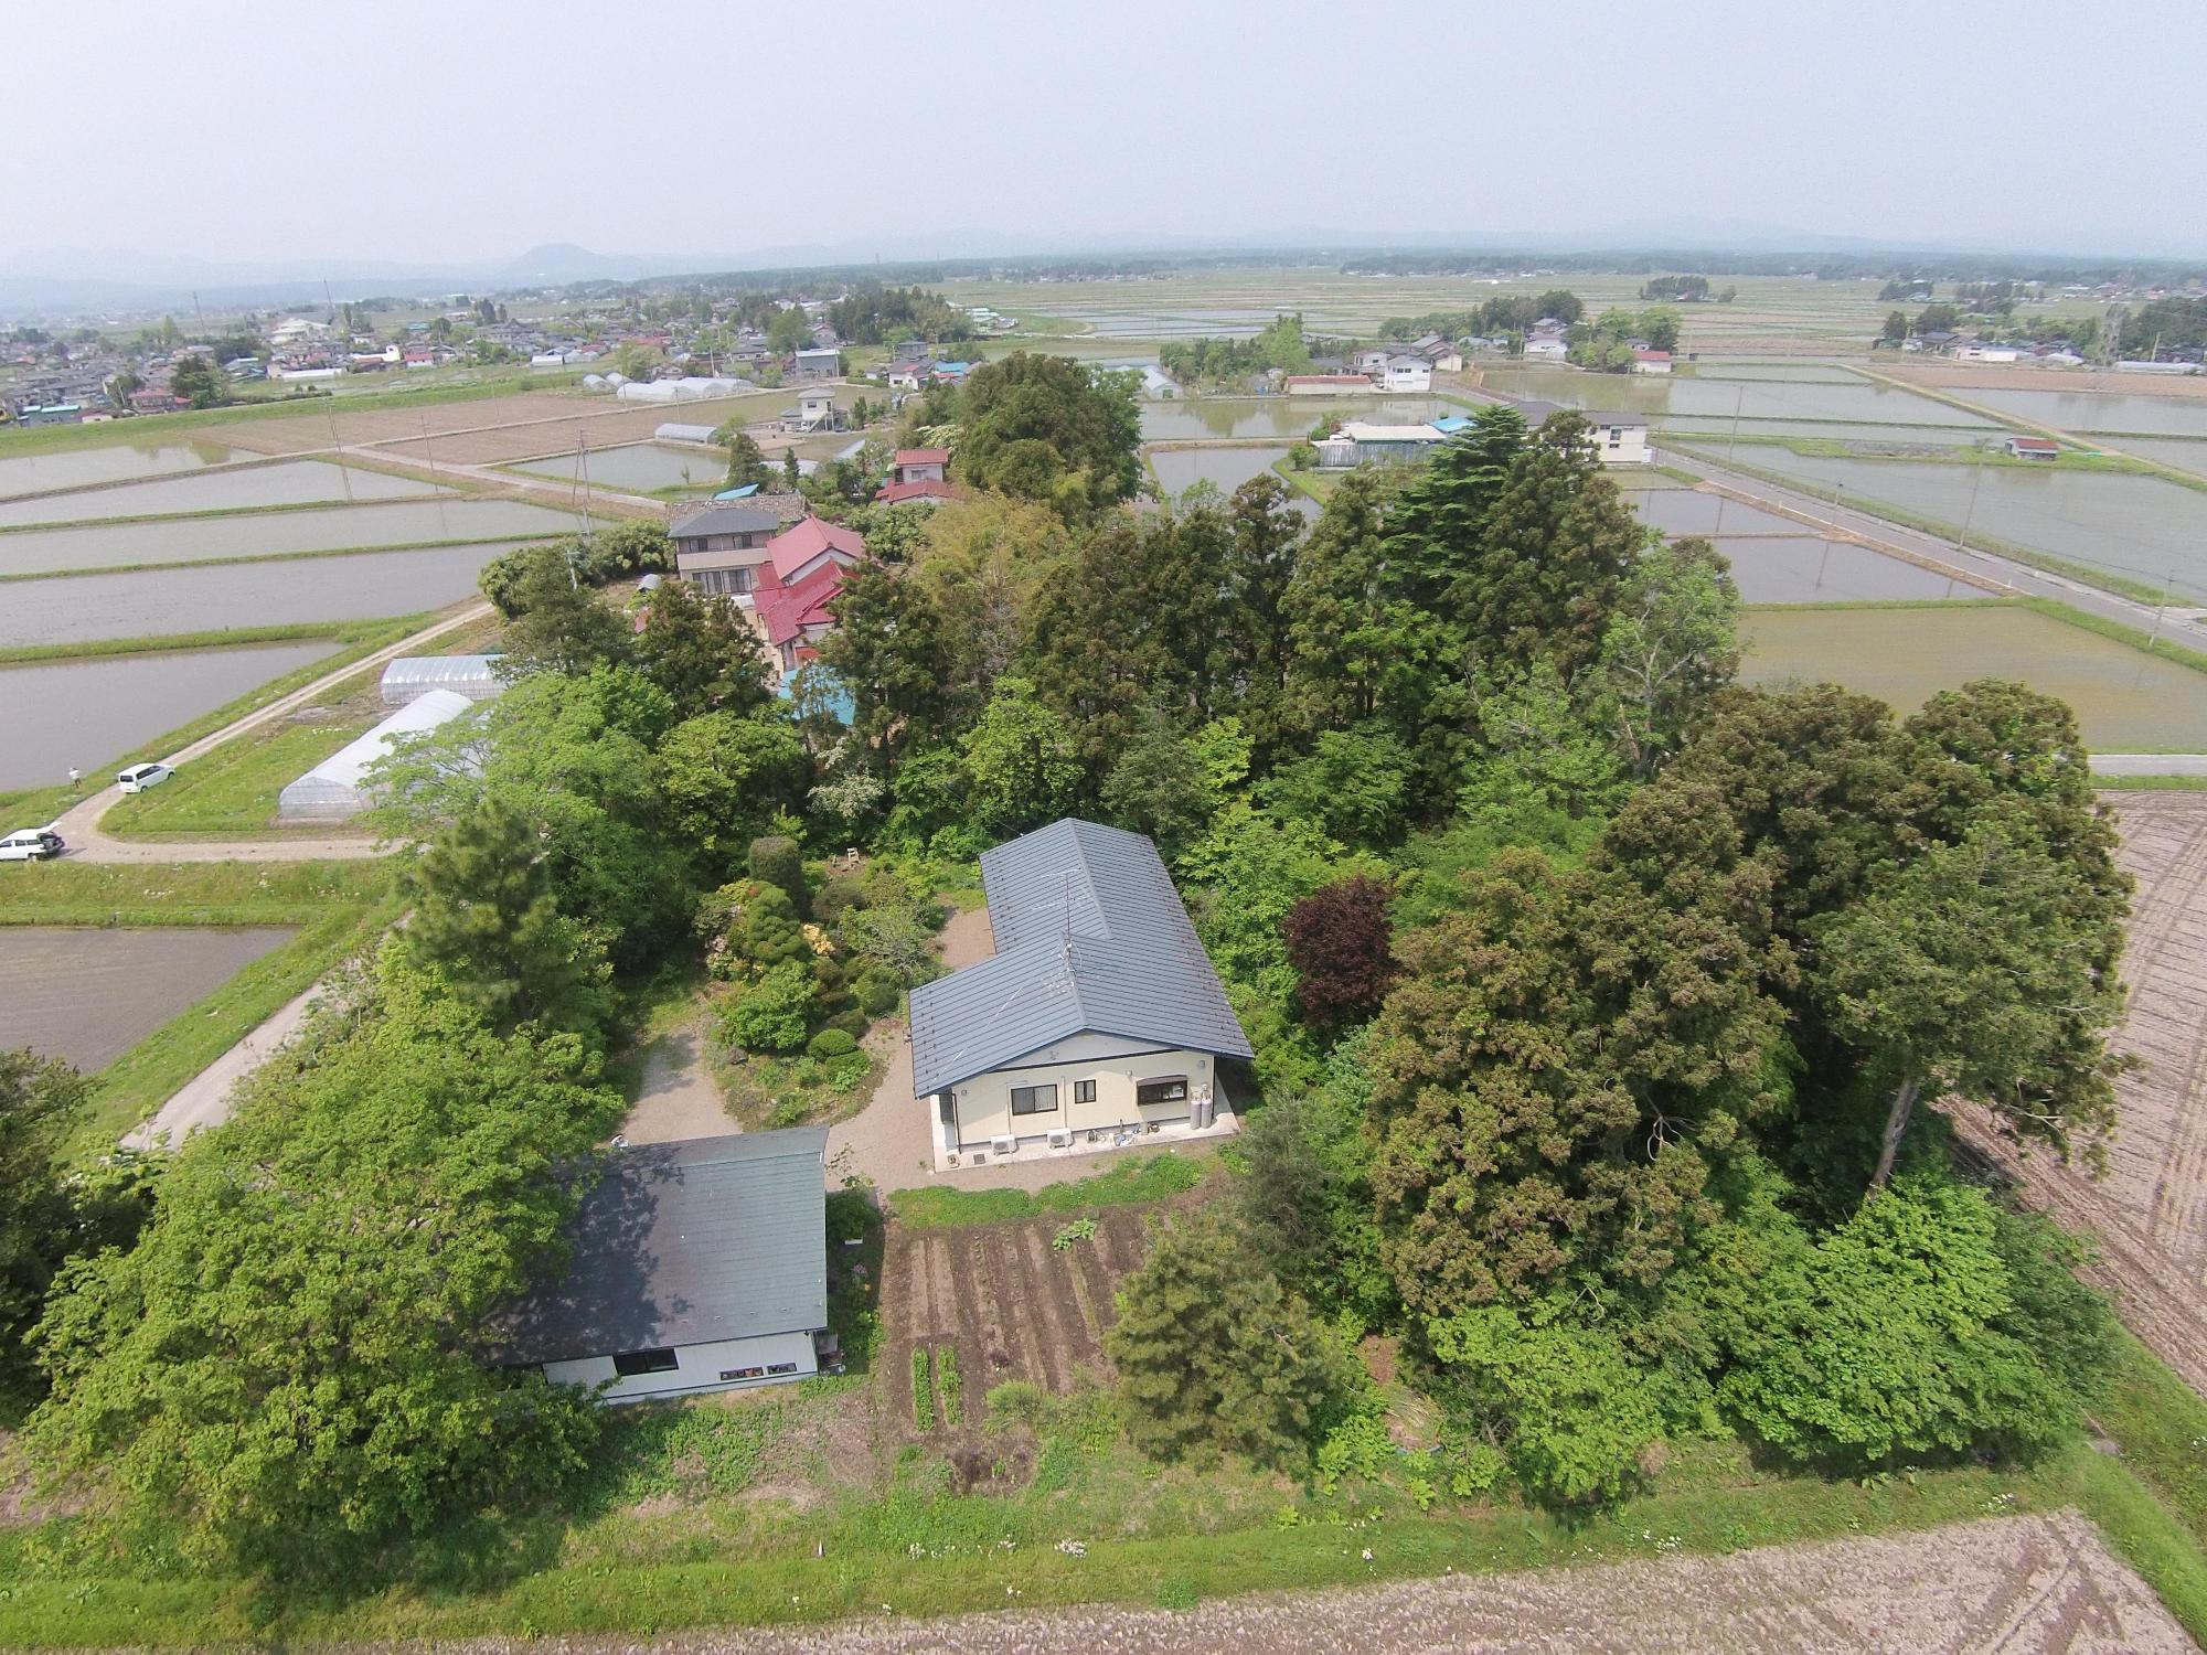
[[[2200,0],[13,0],[0,40],[0,267],[1682,221],[2207,247]]]

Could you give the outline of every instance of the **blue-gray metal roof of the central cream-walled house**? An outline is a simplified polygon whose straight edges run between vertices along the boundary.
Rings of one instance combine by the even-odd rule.
[[[982,854],[995,958],[911,991],[911,1090],[931,1097],[1073,1035],[1251,1057],[1141,834],[1066,816]]]

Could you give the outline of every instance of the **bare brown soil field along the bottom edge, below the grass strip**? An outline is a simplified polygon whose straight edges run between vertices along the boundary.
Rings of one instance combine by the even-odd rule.
[[[1192,1542],[1201,1545],[1201,1542]],[[1384,1553],[1386,1536],[1371,1547]],[[1006,1562],[1006,1580],[1022,1569]],[[682,1637],[486,1637],[446,1655],[2187,1655],[2196,1644],[2072,1512],[1876,1540],[1165,1609],[870,1617]]]

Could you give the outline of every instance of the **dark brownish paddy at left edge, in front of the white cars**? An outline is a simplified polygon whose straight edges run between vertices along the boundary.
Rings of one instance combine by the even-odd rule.
[[[26,876],[15,867],[0,874]],[[143,931],[4,925],[0,978],[9,991],[0,995],[0,1048],[29,1046],[90,1075],[294,936],[280,925]]]

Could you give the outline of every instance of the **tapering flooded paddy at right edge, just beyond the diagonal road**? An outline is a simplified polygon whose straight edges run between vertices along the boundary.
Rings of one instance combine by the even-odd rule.
[[[2207,494],[2161,477],[1814,459],[1785,450],[1761,450],[1755,463],[1825,496],[1843,483],[1845,503],[1863,510],[1887,503],[1951,525],[1966,516],[1973,534],[2132,580],[2161,583],[2174,574],[2181,591],[2207,591]]]

